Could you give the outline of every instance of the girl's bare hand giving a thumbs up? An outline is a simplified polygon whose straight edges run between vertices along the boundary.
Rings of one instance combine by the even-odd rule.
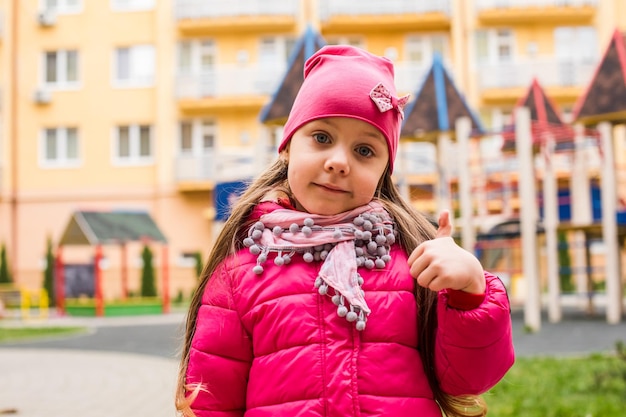
[[[452,238],[452,221],[447,210],[439,214],[435,238],[418,245],[409,256],[408,264],[411,276],[422,287],[433,291],[450,288],[473,294],[485,292],[483,267]]]

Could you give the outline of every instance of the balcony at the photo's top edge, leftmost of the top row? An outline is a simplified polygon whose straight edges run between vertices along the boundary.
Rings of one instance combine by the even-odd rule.
[[[291,31],[298,4],[284,0],[176,0],[179,30],[189,36]]]

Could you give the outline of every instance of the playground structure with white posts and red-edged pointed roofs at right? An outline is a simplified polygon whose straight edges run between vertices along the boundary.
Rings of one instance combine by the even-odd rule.
[[[617,190],[624,189],[626,178],[619,177],[622,171],[615,160],[615,144],[626,142],[623,126],[626,121],[626,104],[623,100],[625,93],[626,49],[623,35],[615,31],[587,93],[576,105],[573,125],[561,121],[558,111],[535,80],[526,97],[520,99],[516,106],[513,125],[498,132],[504,138],[503,150],[506,152],[513,148],[517,159],[515,183],[519,211],[509,214],[519,216],[521,272],[525,281],[524,315],[526,325],[531,329],[538,329],[541,323],[542,289],[537,239],[539,225],[545,238],[546,304],[550,321],[558,322],[562,315],[559,232],[573,233],[574,239],[579,242],[582,240],[586,248],[582,262],[578,262],[579,275],[587,275],[586,278],[577,280],[577,290],[582,294],[591,291],[589,283],[592,281],[589,277],[591,265],[587,241],[590,238],[601,239],[605,250],[606,319],[609,323],[621,321],[624,284],[620,274],[619,240],[622,239],[623,242],[626,235],[626,207],[623,206],[624,196],[618,196]],[[418,95],[417,100],[419,99]],[[440,98],[438,100],[441,101]],[[410,116],[405,125],[409,121]],[[459,167],[456,177],[462,222],[461,242],[466,249],[475,250],[477,227],[474,213],[476,205],[480,206],[481,201],[472,198],[472,176],[469,171],[469,138],[472,135],[470,123],[468,116],[456,120],[455,139],[459,157],[456,161]],[[443,143],[441,138],[445,138],[445,132],[442,134],[441,130],[443,129],[437,132],[438,148]],[[474,135],[481,136],[482,132],[475,132]],[[423,136],[428,137],[427,134]],[[599,164],[595,167],[597,172],[593,174],[587,164],[587,148],[590,145],[597,150],[599,156]],[[618,150],[617,155],[623,152],[624,149],[621,152]],[[559,154],[568,154],[571,160],[569,178],[566,177],[567,188],[560,187],[557,178],[555,159]],[[594,185],[594,182],[597,184]],[[480,191],[482,192],[477,194],[484,195],[484,190]],[[444,196],[446,194],[443,193]],[[592,198],[592,194],[595,198]],[[569,201],[559,202],[559,195],[569,197]],[[618,197],[622,207],[618,207]],[[442,198],[439,201],[439,209],[454,206],[448,205]],[[485,200],[482,202],[484,204]],[[477,211],[487,212],[484,208]]]

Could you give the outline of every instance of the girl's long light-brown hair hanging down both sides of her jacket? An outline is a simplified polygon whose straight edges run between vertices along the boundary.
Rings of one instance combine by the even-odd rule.
[[[261,199],[276,189],[289,192],[287,184],[287,163],[277,159],[266,169],[239,197],[232,208],[230,217],[218,235],[201,274],[200,283],[194,292],[189,306],[186,322],[185,340],[181,352],[181,362],[176,389],[176,409],[184,416],[193,417],[191,403],[195,399],[198,386],[186,384],[185,376],[189,362],[191,341],[196,329],[198,309],[206,284],[218,265],[229,255],[243,247],[242,241],[247,232],[248,220],[252,209]],[[414,207],[412,207],[398,191],[389,171],[385,171],[375,196],[389,211],[396,222],[398,240],[407,253],[411,253],[421,242],[435,236],[433,224]],[[418,334],[420,356],[424,371],[428,378],[435,400],[448,417],[479,417],[486,415],[486,405],[478,396],[454,397],[444,393],[439,387],[435,374],[435,331],[437,328],[437,294],[429,289],[416,285],[416,300],[419,306]],[[192,394],[187,396],[187,391]]]

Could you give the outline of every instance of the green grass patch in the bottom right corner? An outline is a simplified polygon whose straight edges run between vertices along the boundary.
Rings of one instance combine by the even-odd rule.
[[[624,417],[626,349],[582,358],[518,358],[484,398],[493,417]]]

